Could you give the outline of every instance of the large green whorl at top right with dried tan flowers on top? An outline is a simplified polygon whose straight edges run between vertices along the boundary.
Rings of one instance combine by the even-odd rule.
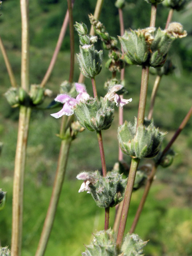
[[[172,42],[176,38],[187,36],[180,23],[170,23],[168,28],[144,28],[125,31],[119,36],[120,43],[124,49],[124,58],[128,64],[161,67]]]

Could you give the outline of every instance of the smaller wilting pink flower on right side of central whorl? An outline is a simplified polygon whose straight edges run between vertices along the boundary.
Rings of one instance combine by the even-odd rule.
[[[122,84],[115,84],[114,86],[112,86],[108,93],[105,95],[105,98],[108,100],[114,100],[116,102],[116,106],[117,107],[121,107],[123,108],[123,106],[129,102],[132,101],[132,98],[125,100],[122,99],[116,92],[118,92],[119,90],[121,90],[123,88]]]

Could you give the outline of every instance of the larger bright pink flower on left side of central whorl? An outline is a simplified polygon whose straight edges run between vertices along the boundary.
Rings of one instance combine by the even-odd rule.
[[[61,103],[65,103],[63,105],[63,108],[54,114],[51,114],[51,116],[55,118],[59,118],[63,115],[66,116],[71,116],[74,113],[73,108],[78,104],[80,101],[85,102],[86,100],[89,100],[90,96],[86,91],[85,85],[84,84],[75,84],[76,91],[79,92],[77,95],[76,99],[72,98],[68,94],[59,94],[56,98],[55,101],[59,101]]]

